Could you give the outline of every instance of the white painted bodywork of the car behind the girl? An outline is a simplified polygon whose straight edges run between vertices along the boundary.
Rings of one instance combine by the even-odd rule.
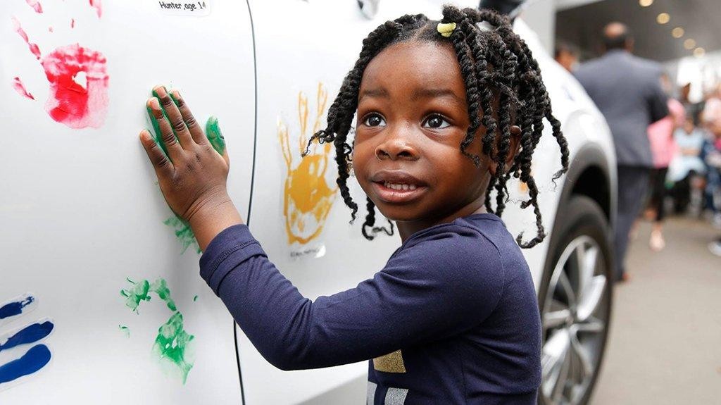
[[[155,3],[106,2],[99,17],[99,9],[87,5],[48,2],[40,14],[17,1],[0,16],[0,52],[22,56],[0,62],[0,82],[6,84],[0,86],[0,102],[12,106],[0,110],[0,117],[14,133],[0,139],[0,223],[10,230],[0,236],[0,306],[25,293],[37,298],[28,316],[0,319],[0,344],[32,321],[50,319],[56,325],[43,340],[53,353],[51,362],[20,383],[0,383],[0,403],[120,404],[132,398],[238,404],[235,350],[247,404],[357,403],[365,397],[366,362],[283,372],[262,359],[240,329],[233,330],[223,304],[198,277],[192,239],[185,238],[190,246],[180,254],[174,232],[187,236],[182,225],[163,224],[172,213],[137,139],[138,130],[150,125],[139,103],[152,85],[166,83],[182,86],[201,123],[216,115],[231,157],[229,192],[270,259],[308,298],[353,288],[382,269],[399,238],[363,239],[360,187],[349,179],[360,206],[350,225],[350,211],[335,186],[334,152],[320,146],[301,160],[301,140],[324,125],[368,32],[406,13],[438,18],[442,2],[376,1],[379,11],[372,19],[350,0],[213,1],[202,18],[160,12]],[[47,79],[12,17],[43,52],[71,43],[102,50],[110,104],[101,128],[70,129],[48,116]],[[609,159],[615,184],[603,117],[522,21],[516,30],[539,60],[571,161],[583,166],[583,159],[574,159],[578,151],[598,148]],[[9,85],[16,76],[35,100]],[[547,233],[555,218],[562,218],[557,211],[565,187],[565,178],[551,181],[560,155],[549,130],[547,125],[534,156]],[[503,220],[514,235],[532,238],[532,210],[518,208],[527,191],[516,181],[509,190]],[[383,223],[381,215],[376,218]],[[536,288],[548,241],[523,251]],[[185,329],[194,335],[195,362],[185,384],[153,354],[159,326],[173,312],[152,294],[137,313],[128,308],[120,295],[133,288],[126,277],[136,284],[162,278],[172,290]],[[27,348],[0,352],[0,366]]]

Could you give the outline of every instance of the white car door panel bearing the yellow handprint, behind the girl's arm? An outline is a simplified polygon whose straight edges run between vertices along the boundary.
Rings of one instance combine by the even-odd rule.
[[[353,288],[381,270],[400,239],[366,241],[361,224],[366,200],[348,180],[360,209],[349,225],[335,179],[332,146],[306,140],[324,128],[328,107],[361,51],[368,32],[387,19],[418,12],[440,14],[424,1],[381,1],[373,19],[353,0],[250,2],[257,48],[258,120],[255,181],[249,226],[270,260],[308,298]],[[378,213],[377,225],[386,221]],[[366,362],[320,370],[278,370],[239,332],[247,404],[314,403],[333,388],[362,378]],[[362,391],[348,403],[363,401]]]

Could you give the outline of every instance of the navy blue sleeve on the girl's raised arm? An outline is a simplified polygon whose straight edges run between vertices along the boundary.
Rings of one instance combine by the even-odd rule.
[[[448,227],[407,243],[372,279],[314,302],[244,225],[213,239],[200,275],[275,367],[358,362],[459,334],[494,310],[505,283],[498,249],[477,231]]]

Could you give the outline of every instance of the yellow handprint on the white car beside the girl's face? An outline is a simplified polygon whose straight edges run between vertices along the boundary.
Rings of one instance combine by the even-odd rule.
[[[316,114],[311,134],[320,129],[328,93],[323,84],[318,84],[316,98]],[[308,97],[303,92],[298,93],[298,122],[301,126],[301,135],[298,138],[298,151],[303,152],[308,144]],[[278,120],[278,137],[286,161],[285,199],[283,201],[283,215],[286,217],[286,233],[288,244],[297,242],[307,244],[317,238],[330,208],[335,200],[337,187],[329,187],[325,178],[328,168],[328,154],[332,146],[327,143],[319,146],[315,143],[311,153],[301,159],[301,163],[293,169],[293,156],[291,142],[288,138],[288,126]]]

